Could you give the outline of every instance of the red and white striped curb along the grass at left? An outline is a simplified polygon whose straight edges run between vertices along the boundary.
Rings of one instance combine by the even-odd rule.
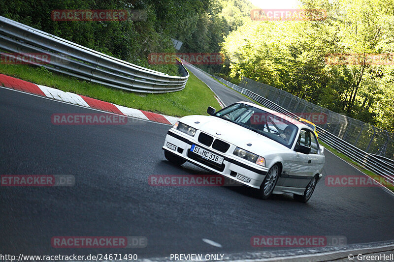
[[[7,88],[12,88],[18,91],[26,93],[32,93],[35,95],[44,96],[47,98],[63,101],[66,103],[79,105],[82,107],[94,108],[101,111],[114,113],[121,116],[131,116],[135,118],[150,120],[163,124],[175,124],[179,119],[174,116],[165,116],[152,112],[146,112],[134,108],[128,108],[124,106],[115,105],[112,103],[104,102],[98,99],[90,98],[83,95],[78,95],[70,92],[64,92],[59,89],[52,87],[45,87],[41,85],[35,85],[30,82],[26,82],[17,78],[0,74],[0,85]]]

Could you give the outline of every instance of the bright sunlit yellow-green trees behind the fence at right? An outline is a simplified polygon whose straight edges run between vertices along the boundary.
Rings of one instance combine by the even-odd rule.
[[[391,65],[364,62],[367,54],[394,53],[393,0],[304,0],[303,4],[327,10],[327,19],[249,21],[231,32],[222,44],[230,77],[245,76],[282,88],[394,131],[394,60]],[[338,53],[360,54],[360,62],[327,62],[327,56]]]

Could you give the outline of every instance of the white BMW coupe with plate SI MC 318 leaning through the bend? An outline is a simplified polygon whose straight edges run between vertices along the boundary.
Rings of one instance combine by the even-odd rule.
[[[165,158],[189,161],[215,174],[271,194],[293,193],[306,203],[322,177],[324,147],[313,130],[295,119],[238,102],[210,116],[184,116],[168,130]]]

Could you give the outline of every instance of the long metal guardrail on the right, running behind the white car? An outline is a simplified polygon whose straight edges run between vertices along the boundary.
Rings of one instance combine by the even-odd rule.
[[[213,76],[218,79],[220,82],[224,83],[228,87],[231,87],[235,91],[240,92],[241,94],[245,94],[246,96],[252,98],[253,100],[259,102],[263,106],[275,110],[279,113],[282,113],[286,116],[290,116],[292,118],[296,118],[297,115],[292,112],[284,109],[283,107],[273,103],[272,101],[262,97],[246,88],[239,87],[230,83],[229,81],[224,80],[223,78]],[[381,175],[386,178],[386,181],[394,184],[394,164],[388,163],[385,160],[378,158],[372,154],[369,154],[356,146],[353,146],[346,141],[334,136],[332,133],[324,130],[321,127],[317,126],[319,130],[319,139],[326,143],[328,146],[338,150],[339,152],[345,154],[350,159],[358,163],[361,167],[374,172],[377,175]]]

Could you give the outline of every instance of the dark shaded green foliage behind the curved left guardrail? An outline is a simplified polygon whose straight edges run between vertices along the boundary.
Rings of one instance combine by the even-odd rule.
[[[150,53],[175,52],[171,37],[209,0],[13,0],[0,1],[0,15],[129,62],[176,74],[174,65],[148,63]],[[128,10],[126,21],[53,21],[52,10]],[[137,21],[136,21],[137,20]]]

